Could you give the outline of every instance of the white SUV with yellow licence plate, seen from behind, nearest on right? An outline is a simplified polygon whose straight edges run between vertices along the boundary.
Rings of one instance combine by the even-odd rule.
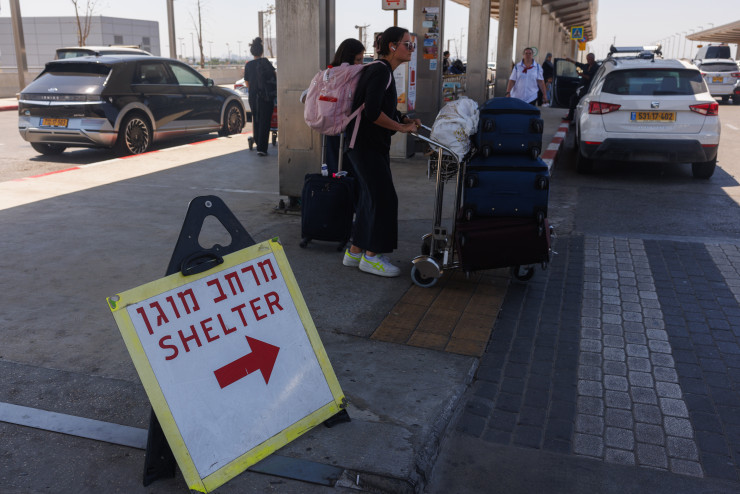
[[[575,113],[577,169],[594,160],[691,163],[714,173],[719,105],[696,66],[681,60],[607,59]]]

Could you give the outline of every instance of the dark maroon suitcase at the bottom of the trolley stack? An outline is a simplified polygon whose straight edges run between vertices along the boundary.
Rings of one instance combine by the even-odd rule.
[[[550,260],[547,218],[476,218],[458,221],[455,244],[465,271],[524,266]]]

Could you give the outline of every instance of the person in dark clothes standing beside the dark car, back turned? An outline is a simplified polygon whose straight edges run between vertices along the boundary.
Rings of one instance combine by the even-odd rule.
[[[262,56],[265,52],[262,38],[254,38],[249,45],[254,56],[244,66],[244,83],[249,88],[249,107],[252,110],[252,135],[257,144],[257,154],[267,156],[267,142],[270,137],[270,120],[275,108],[277,87],[275,67]]]

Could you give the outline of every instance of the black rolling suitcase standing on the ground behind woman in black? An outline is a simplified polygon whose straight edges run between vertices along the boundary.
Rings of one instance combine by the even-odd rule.
[[[326,155],[326,137],[323,138],[322,163]],[[343,250],[352,235],[352,218],[355,213],[355,179],[342,172],[344,135],[339,144],[337,173],[324,176],[309,173],[301,193],[301,247],[311,240],[337,242]]]

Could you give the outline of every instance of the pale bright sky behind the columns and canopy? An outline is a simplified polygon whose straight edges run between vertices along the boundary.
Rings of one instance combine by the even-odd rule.
[[[10,0],[0,0],[0,17],[10,17]],[[92,0],[91,0],[92,1]],[[200,0],[203,16],[204,52],[209,49],[214,57],[226,57],[241,52],[246,57],[249,42],[258,34],[259,11],[274,5],[274,0]],[[357,37],[355,26],[368,26],[373,33],[393,25],[393,12],[381,9],[381,0],[335,0],[337,44],[349,37]],[[79,0],[84,5],[86,0]],[[399,11],[398,25],[412,28],[413,0],[407,0],[408,9]],[[195,33],[192,17],[196,15],[196,0],[175,0],[176,37],[183,38],[178,47],[185,55],[192,56],[191,33]],[[702,8],[696,0],[599,0],[597,37],[589,43],[589,50],[603,58],[614,41],[617,46],[651,44],[657,40],[668,41],[670,56],[688,57],[691,49],[696,52],[696,42],[684,41],[684,33],[717,27],[740,20],[738,0],[704,0]],[[71,0],[20,0],[23,16],[73,16]],[[466,58],[468,9],[452,0],[445,0],[445,45],[453,59]],[[95,0],[95,15],[124,17],[159,22],[161,53],[169,55],[167,35],[167,3],[165,0]],[[274,33],[274,17],[273,30]],[[491,23],[489,58],[495,59],[496,29]],[[676,33],[679,35],[677,36]],[[370,39],[370,38],[368,38]],[[228,47],[227,47],[228,43]],[[732,52],[735,53],[733,46]],[[196,46],[197,51],[197,46]],[[547,47],[540,47],[542,53]],[[664,50],[665,53],[665,50]]]

